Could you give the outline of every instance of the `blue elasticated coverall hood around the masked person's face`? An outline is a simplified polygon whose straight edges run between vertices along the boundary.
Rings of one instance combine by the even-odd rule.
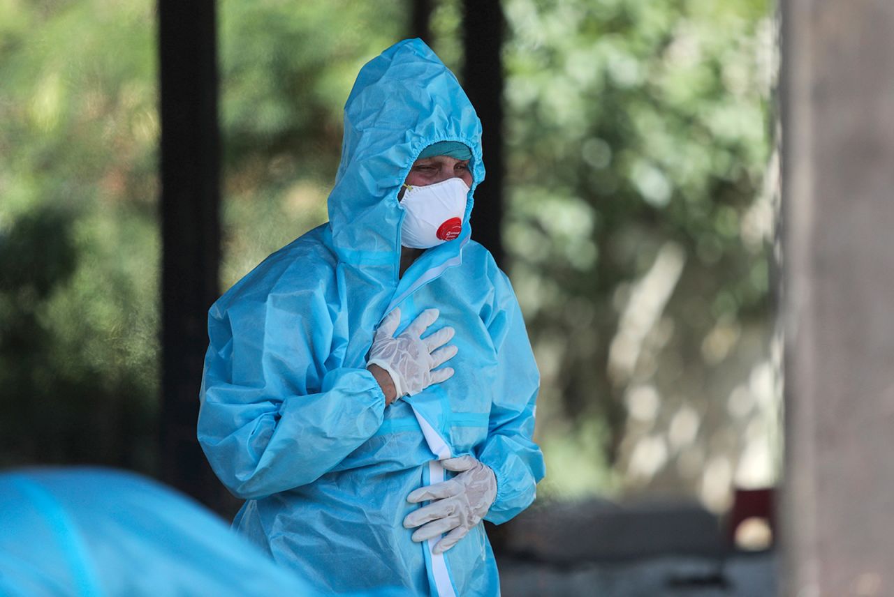
[[[345,104],[342,162],[329,195],[333,244],[342,259],[399,259],[401,185],[420,154],[445,141],[471,152],[474,182],[462,233],[445,244],[458,253],[471,232],[472,195],[485,178],[481,121],[460,82],[420,39],[401,41],[367,62]]]

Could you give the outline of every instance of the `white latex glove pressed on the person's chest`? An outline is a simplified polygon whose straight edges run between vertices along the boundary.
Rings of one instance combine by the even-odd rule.
[[[439,384],[453,375],[453,369],[445,367],[434,371],[456,355],[457,347],[450,345],[453,328],[441,328],[431,336],[422,338],[423,332],[438,319],[440,311],[426,309],[409,324],[401,336],[394,336],[401,323],[401,310],[388,313],[375,331],[373,348],[369,352],[369,365],[378,365],[388,371],[397,390],[397,397],[415,396],[432,384]]]

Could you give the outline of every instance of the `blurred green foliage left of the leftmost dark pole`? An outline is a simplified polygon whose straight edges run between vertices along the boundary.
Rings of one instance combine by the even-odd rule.
[[[0,464],[153,466],[152,19],[0,2]]]

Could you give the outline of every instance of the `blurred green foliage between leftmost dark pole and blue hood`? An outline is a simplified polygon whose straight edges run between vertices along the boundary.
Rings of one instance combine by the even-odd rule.
[[[328,219],[344,102],[409,27],[405,4],[219,3],[224,288]]]

